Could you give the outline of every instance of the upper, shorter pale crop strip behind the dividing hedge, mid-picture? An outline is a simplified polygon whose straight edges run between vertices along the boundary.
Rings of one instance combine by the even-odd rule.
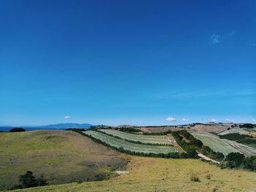
[[[111,134],[116,137],[120,137],[121,139],[127,139],[129,141],[134,141],[134,142],[166,144],[166,145],[171,144],[166,136],[128,134],[123,131],[117,131],[117,130],[113,130],[113,129],[99,129],[99,131],[102,131],[103,133],[106,133],[106,134]]]

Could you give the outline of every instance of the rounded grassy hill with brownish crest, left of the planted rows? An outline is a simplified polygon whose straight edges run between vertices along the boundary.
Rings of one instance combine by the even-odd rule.
[[[98,180],[126,163],[116,150],[73,131],[0,133],[0,189],[28,170],[58,184]]]

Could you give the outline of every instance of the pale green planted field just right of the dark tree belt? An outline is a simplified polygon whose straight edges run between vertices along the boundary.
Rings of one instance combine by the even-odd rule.
[[[228,153],[238,152],[235,148],[228,145],[226,142],[222,141],[218,137],[212,137],[205,134],[193,134],[197,139],[200,139],[203,142],[203,145],[210,147],[215,152],[223,153],[227,155]]]

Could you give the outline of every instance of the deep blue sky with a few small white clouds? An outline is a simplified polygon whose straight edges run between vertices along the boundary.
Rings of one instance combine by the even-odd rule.
[[[0,17],[0,125],[256,121],[256,1],[3,0]]]

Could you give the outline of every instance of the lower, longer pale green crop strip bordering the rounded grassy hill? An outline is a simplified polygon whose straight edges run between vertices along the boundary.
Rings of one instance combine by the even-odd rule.
[[[123,147],[124,150],[130,150],[142,153],[171,153],[176,152],[174,147],[171,146],[157,146],[157,145],[140,145],[132,142],[127,142],[122,139],[111,137],[107,134],[100,133],[98,131],[84,131],[84,134],[88,134],[91,137],[101,140],[112,147]]]

